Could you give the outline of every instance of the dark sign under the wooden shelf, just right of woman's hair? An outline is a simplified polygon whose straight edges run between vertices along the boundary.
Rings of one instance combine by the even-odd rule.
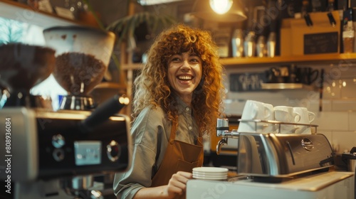
[[[266,82],[265,72],[244,72],[230,74],[230,91],[258,91],[261,90],[261,83]]]

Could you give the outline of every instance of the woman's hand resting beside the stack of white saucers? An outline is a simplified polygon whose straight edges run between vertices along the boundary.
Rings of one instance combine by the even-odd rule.
[[[174,198],[176,195],[184,194],[189,179],[192,179],[192,173],[184,171],[174,173],[164,190],[164,195],[167,195],[168,198]]]

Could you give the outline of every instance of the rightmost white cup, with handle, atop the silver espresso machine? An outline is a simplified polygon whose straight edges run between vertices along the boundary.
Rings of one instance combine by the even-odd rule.
[[[300,121],[297,123],[310,124],[315,119],[315,114],[313,112],[308,111],[308,109],[305,107],[294,107],[293,111],[300,115]],[[312,127],[303,126],[303,125],[300,125],[298,127],[299,129],[295,131],[295,134],[311,134],[310,128]]]

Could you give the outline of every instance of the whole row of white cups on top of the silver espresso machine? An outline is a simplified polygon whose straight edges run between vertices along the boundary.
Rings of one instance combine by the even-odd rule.
[[[276,106],[263,102],[247,100],[241,115],[239,132],[312,134],[308,125],[273,124],[268,122],[246,122],[248,120],[277,121],[283,123],[310,124],[315,114],[305,107]]]

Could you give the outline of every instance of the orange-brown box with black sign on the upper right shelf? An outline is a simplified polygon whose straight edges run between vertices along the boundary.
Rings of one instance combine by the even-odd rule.
[[[328,13],[310,13],[313,26],[304,18],[286,18],[281,24],[281,56],[340,53],[340,16],[332,12],[335,26],[331,26]]]

